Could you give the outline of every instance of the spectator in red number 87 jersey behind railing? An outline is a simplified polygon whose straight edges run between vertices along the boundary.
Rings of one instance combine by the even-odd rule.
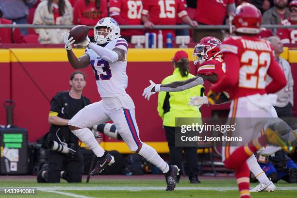
[[[141,25],[142,0],[110,0],[109,13],[119,25]],[[143,30],[121,30],[126,41],[132,35],[144,35]]]

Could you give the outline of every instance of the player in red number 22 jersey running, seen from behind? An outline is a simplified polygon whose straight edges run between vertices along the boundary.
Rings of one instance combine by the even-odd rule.
[[[211,87],[208,97],[213,103],[219,96],[216,93],[230,90],[232,99],[230,124],[236,123],[237,129],[248,137],[253,135],[253,132],[260,131],[263,120],[253,119],[253,124],[247,124],[237,122],[238,117],[270,117],[270,109],[276,98],[271,99],[267,94],[275,93],[284,87],[286,79],[274,59],[271,44],[257,38],[262,22],[261,12],[254,5],[244,3],[236,8],[230,22],[230,32],[235,32],[238,36],[227,38],[221,45],[226,73]],[[265,86],[266,74],[273,79],[267,86]],[[272,133],[277,141],[269,136]],[[222,160],[227,168],[235,170],[241,198],[250,197],[247,159],[267,143],[283,143],[281,146],[286,146],[280,139],[279,134],[268,128],[265,135],[245,146],[223,147]]]

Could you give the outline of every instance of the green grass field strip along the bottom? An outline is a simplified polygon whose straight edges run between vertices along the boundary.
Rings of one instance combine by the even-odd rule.
[[[251,186],[256,186],[252,183]],[[276,184],[276,192],[251,193],[252,198],[294,198],[297,184],[281,181]],[[200,184],[190,184],[183,179],[172,192],[165,191],[165,181],[161,179],[91,179],[89,183],[36,183],[33,179],[1,179],[0,187],[37,187],[36,195],[0,195],[7,198],[238,198],[235,180],[202,180]]]

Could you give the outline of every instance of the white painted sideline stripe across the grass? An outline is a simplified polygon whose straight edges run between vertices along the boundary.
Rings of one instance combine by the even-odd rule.
[[[19,187],[21,188],[21,187]],[[154,186],[37,186],[37,190],[41,191],[50,191],[50,190],[80,190],[80,191],[99,191],[99,190],[108,190],[108,191],[143,191],[143,190],[165,190],[164,187],[154,187]],[[175,190],[212,190],[212,191],[229,191],[229,190],[238,190],[237,187],[176,187]],[[276,190],[297,190],[297,187],[277,187]],[[81,198],[81,197],[80,197]]]

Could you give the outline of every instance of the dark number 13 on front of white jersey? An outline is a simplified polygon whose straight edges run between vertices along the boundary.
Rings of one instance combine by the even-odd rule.
[[[96,81],[99,81],[100,79],[105,81],[112,77],[112,72],[107,61],[102,59],[98,60],[95,66],[95,60],[91,60],[90,64],[94,70]]]

